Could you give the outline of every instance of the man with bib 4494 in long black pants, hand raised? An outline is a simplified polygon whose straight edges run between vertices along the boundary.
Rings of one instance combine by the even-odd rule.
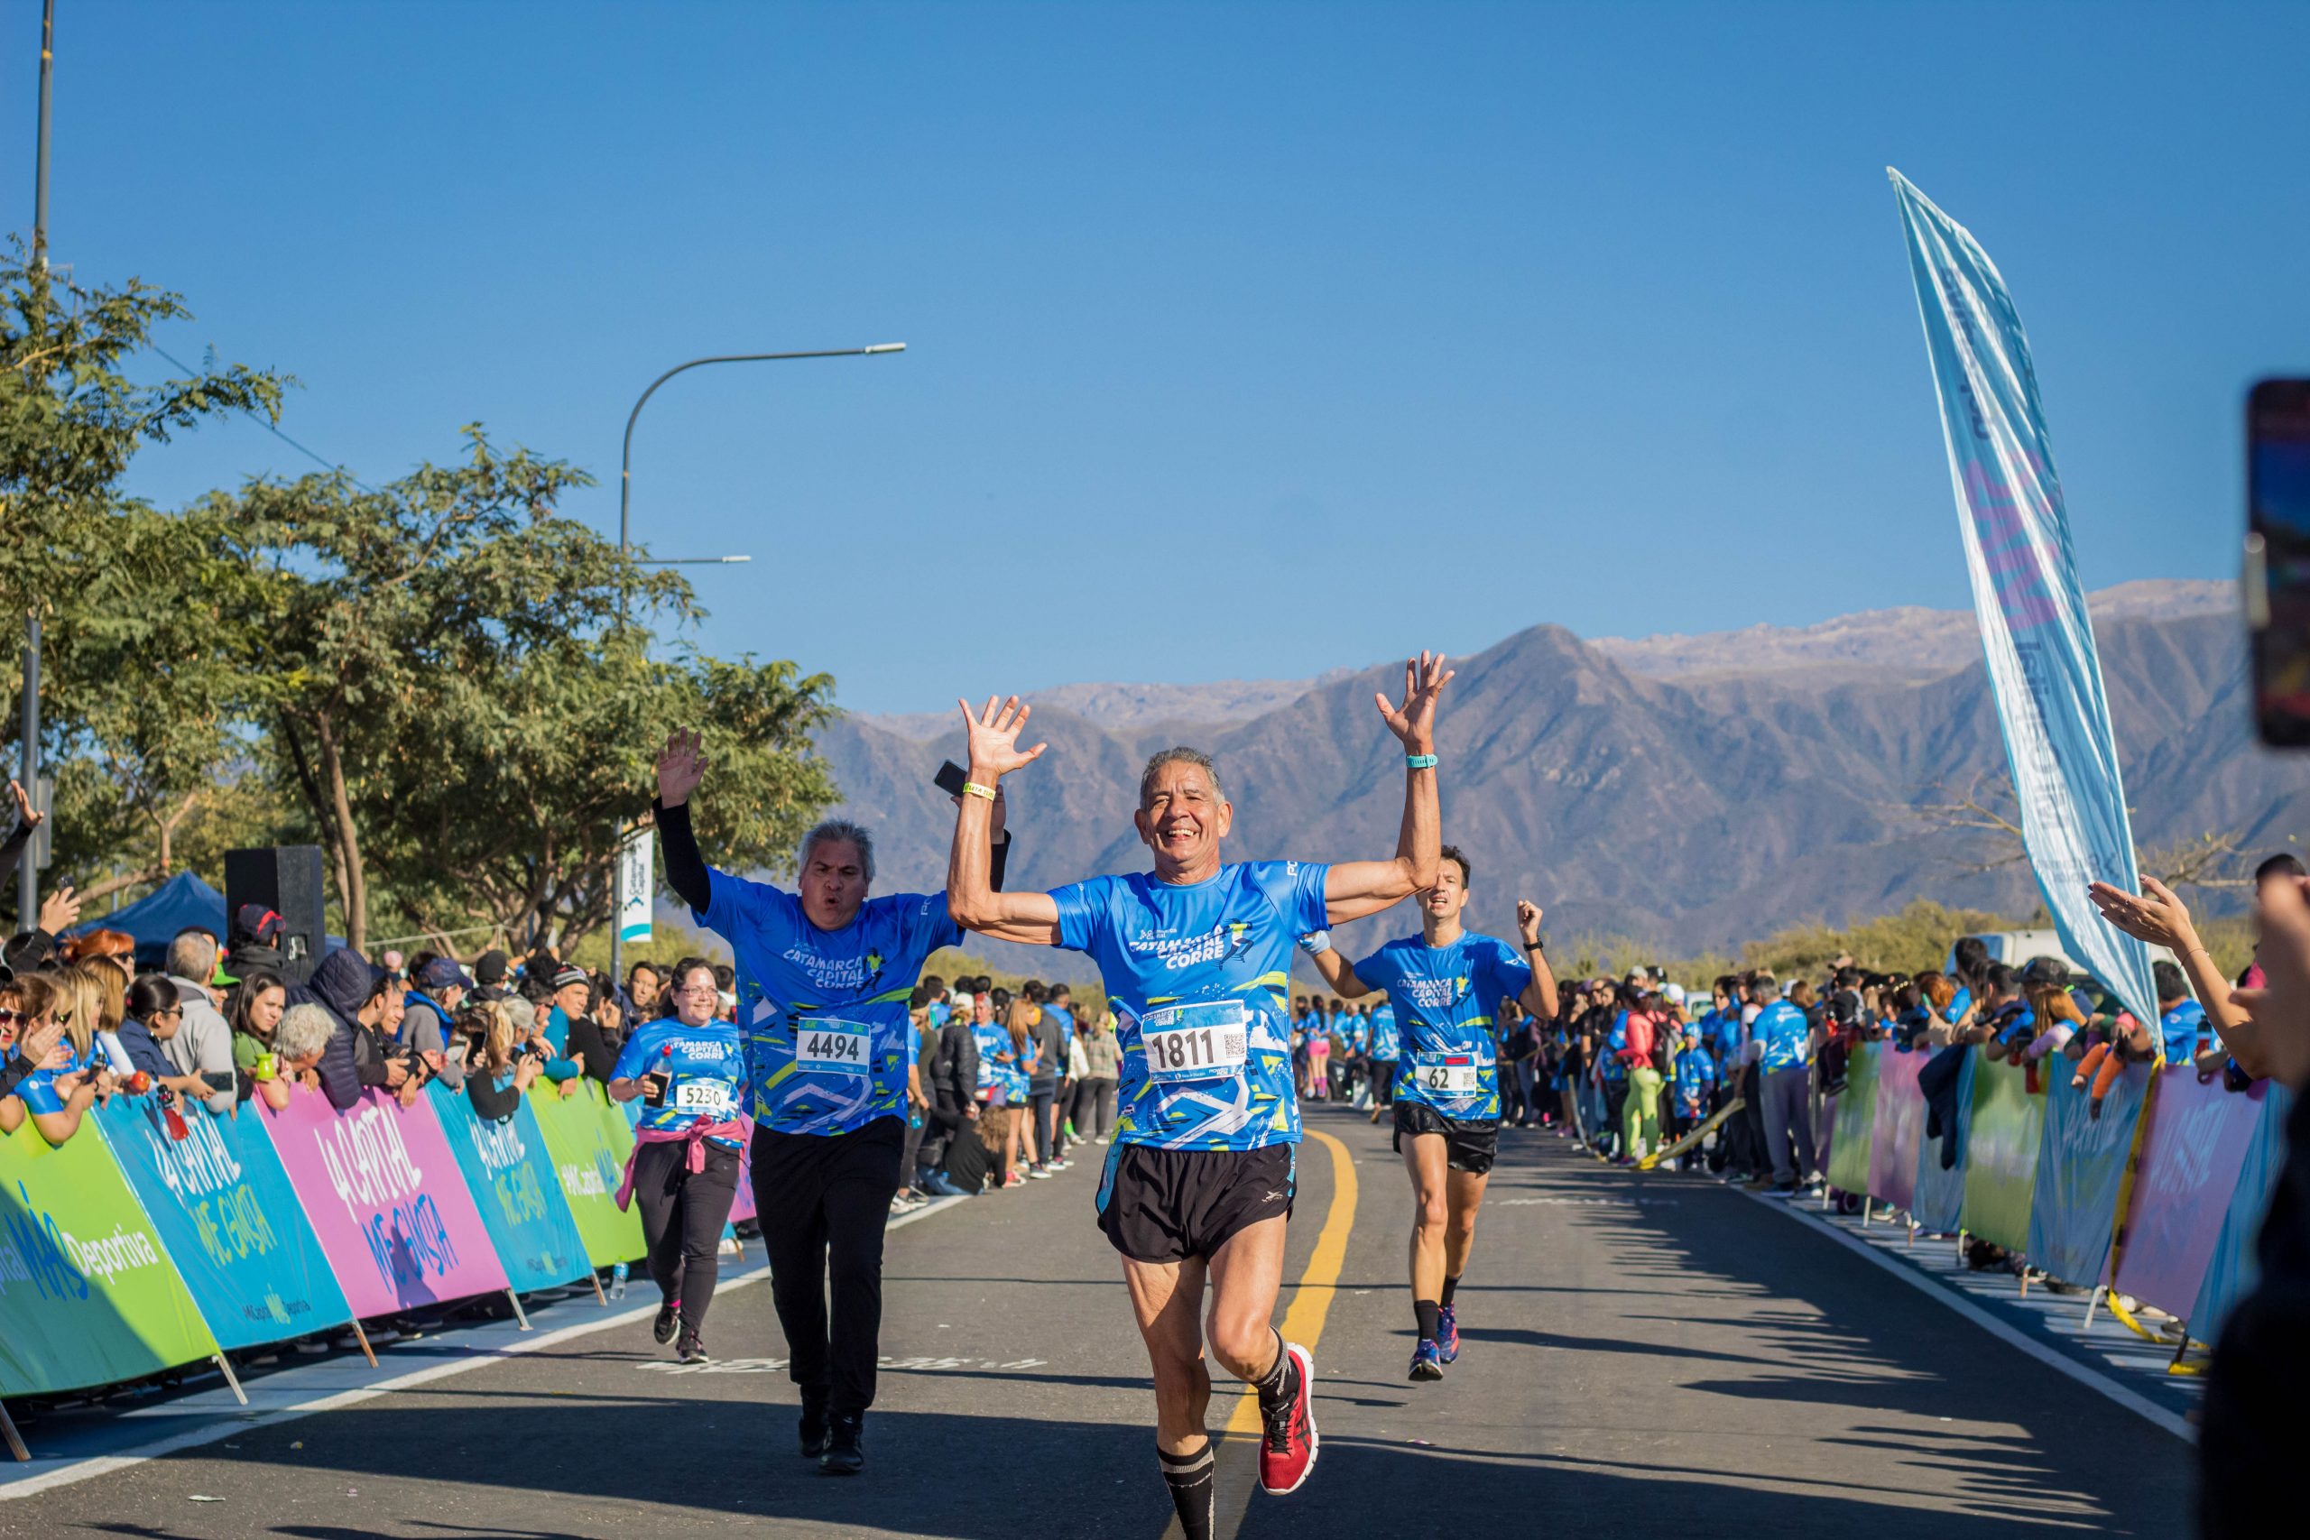
[[[873,838],[843,820],[804,836],[797,894],[709,870],[688,810],[702,778],[700,737],[670,734],[656,808],[665,880],[737,956],[753,1194],[802,1392],[802,1452],[827,1475],[852,1475],[866,1464],[882,1226],[906,1150],[906,1007],[922,965],[961,930],[945,894],[869,900]],[[1009,840],[1000,803],[993,813],[1000,864]]]

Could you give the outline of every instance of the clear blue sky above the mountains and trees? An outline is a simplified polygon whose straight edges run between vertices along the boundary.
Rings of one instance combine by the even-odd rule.
[[[614,531],[661,367],[906,342],[635,443],[644,540],[755,559],[702,640],[862,711],[1968,603],[1885,164],[2014,286],[2088,586],[2229,575],[2241,393],[2310,367],[2301,5],[60,12],[55,259],[365,480],[480,420]]]

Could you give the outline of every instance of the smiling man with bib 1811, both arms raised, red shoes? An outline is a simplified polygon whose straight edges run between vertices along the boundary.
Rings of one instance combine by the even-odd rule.
[[[998,894],[989,870],[1000,780],[1044,750],[1019,748],[1028,707],[1016,695],[977,713],[956,702],[970,730],[970,785],[954,822],[947,907],[982,935],[1088,954],[1116,1011],[1123,1115],[1100,1178],[1100,1228],[1123,1254],[1155,1369],[1155,1452],[1187,1540],[1208,1540],[1213,1515],[1206,1341],[1259,1392],[1259,1485],[1294,1492],[1314,1468],[1314,1358],[1273,1325],[1301,1138],[1291,947],[1435,884],[1435,709],[1448,681],[1444,658],[1421,653],[1404,665],[1402,707],[1374,697],[1404,746],[1393,859],[1222,864],[1236,810],[1220,771],[1208,755],[1167,748],[1139,776],[1132,815],[1155,870],[1051,894]]]

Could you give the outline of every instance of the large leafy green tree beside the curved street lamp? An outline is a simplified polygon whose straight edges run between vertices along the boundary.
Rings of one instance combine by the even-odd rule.
[[[718,743],[716,850],[778,864],[834,799],[808,746],[832,681],[654,656],[621,605],[686,626],[688,584],[554,513],[580,471],[467,439],[464,464],[379,492],[310,476],[213,503],[219,556],[249,575],[219,635],[321,833],[346,940],[365,947],[388,907],[434,935],[601,926],[617,831],[647,813],[675,723]]]

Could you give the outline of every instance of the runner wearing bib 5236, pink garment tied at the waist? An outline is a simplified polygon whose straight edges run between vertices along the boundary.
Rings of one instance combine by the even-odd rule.
[[[617,1205],[642,1203],[649,1277],[663,1300],[651,1337],[668,1341],[679,1318],[675,1358],[702,1365],[721,1233],[746,1150],[746,1046],[737,1023],[714,1021],[711,963],[681,958],[668,993],[675,1014],[635,1030],[610,1071],[612,1099],[642,1099]]]

